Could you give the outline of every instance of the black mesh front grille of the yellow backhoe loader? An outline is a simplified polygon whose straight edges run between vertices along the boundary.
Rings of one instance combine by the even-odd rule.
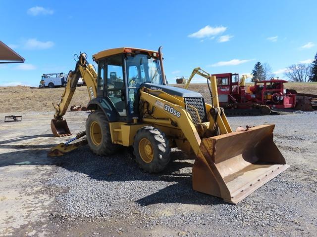
[[[185,108],[186,108],[187,112],[190,114],[190,116],[192,117],[193,123],[198,124],[199,118],[202,122],[205,122],[206,121],[206,109],[205,109],[205,103],[204,103],[203,97],[185,97],[184,99],[185,99],[185,104],[186,104]],[[198,118],[197,113],[194,110],[194,108],[187,106],[187,105],[191,105],[197,109],[198,114],[199,114],[199,118]]]

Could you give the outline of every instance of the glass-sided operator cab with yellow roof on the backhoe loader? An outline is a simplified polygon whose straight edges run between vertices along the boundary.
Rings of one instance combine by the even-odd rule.
[[[156,51],[115,48],[93,55],[93,60],[98,63],[97,98],[106,98],[121,121],[139,115],[142,83],[164,84]]]

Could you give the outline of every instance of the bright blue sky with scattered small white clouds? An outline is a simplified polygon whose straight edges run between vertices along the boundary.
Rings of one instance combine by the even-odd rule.
[[[250,73],[257,61],[277,76],[317,52],[316,0],[0,1],[0,40],[24,64],[0,65],[0,85],[37,86],[43,73],[73,70],[73,55],[163,46],[165,74]],[[195,78],[194,82],[205,82]]]

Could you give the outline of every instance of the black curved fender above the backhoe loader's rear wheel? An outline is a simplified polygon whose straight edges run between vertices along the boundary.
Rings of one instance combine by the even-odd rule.
[[[118,114],[113,108],[112,103],[109,103],[107,98],[92,99],[87,105],[88,110],[97,110],[99,108],[104,111],[109,122],[118,121]]]

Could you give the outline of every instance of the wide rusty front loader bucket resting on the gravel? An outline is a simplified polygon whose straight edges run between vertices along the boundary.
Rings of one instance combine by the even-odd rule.
[[[201,141],[193,189],[238,203],[289,167],[273,142],[274,124]]]

